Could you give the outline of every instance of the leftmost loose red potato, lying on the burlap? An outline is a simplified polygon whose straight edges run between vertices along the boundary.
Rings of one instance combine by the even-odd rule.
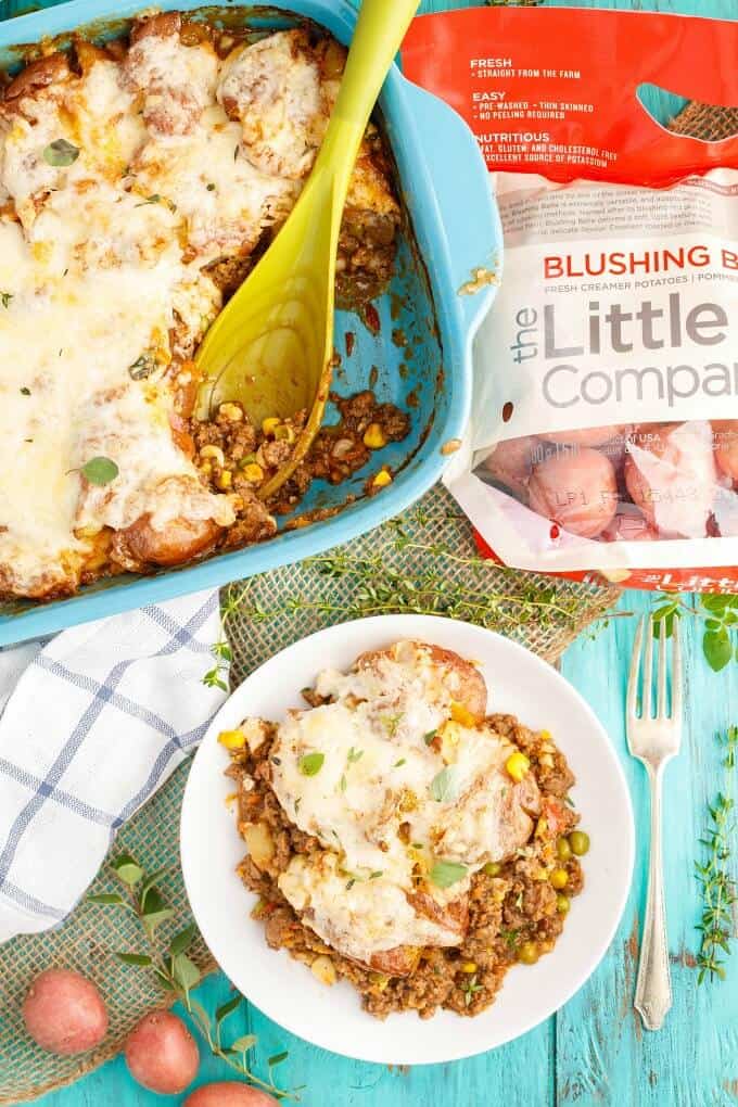
[[[23,1002],[25,1028],[42,1049],[86,1053],[107,1034],[107,1010],[92,981],[71,969],[46,969]]]

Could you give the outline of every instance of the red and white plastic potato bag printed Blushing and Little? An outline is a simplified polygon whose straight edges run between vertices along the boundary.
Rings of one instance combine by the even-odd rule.
[[[738,23],[679,15],[410,29],[405,72],[475,131],[505,231],[446,480],[506,565],[738,591],[738,136],[673,134],[638,95],[738,105],[736,56]]]

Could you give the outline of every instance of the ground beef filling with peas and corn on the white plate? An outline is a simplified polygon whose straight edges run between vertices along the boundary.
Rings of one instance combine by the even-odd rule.
[[[246,887],[259,896],[252,915],[263,921],[268,944],[311,966],[318,958],[330,959],[336,976],[351,981],[364,1007],[378,1018],[399,1011],[416,1011],[422,1018],[429,1018],[439,1007],[460,1015],[479,1014],[495,1001],[512,965],[553,950],[568,903],[562,904],[551,873],[565,870],[567,901],[583,888],[578,858],[562,860],[558,849],[579,823],[565,803],[574,778],[563,754],[547,732],[530,731],[512,715],[492,715],[490,720],[499,734],[507,735],[529,757],[530,772],[541,790],[541,817],[523,849],[475,876],[464,942],[451,949],[425,949],[417,969],[402,979],[342,956],[300,920],[277,881],[293,855],[322,847],[290,823],[271,789],[272,736],[254,754],[231,754],[228,775],[237,784],[239,827],[263,823],[273,839],[273,856],[267,863],[257,866],[247,856],[238,870]]]

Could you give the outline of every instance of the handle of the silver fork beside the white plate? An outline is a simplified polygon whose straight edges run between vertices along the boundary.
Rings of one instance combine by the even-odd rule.
[[[668,963],[668,933],[664,906],[662,860],[662,780],[664,765],[646,765],[651,783],[651,859],[646,918],[641,941],[638,979],[634,1007],[648,1031],[658,1031],[672,1007],[672,974]]]

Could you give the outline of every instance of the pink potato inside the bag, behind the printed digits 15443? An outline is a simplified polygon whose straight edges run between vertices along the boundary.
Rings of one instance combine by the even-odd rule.
[[[663,537],[704,538],[718,488],[709,423],[642,423],[628,444],[625,484]]]

